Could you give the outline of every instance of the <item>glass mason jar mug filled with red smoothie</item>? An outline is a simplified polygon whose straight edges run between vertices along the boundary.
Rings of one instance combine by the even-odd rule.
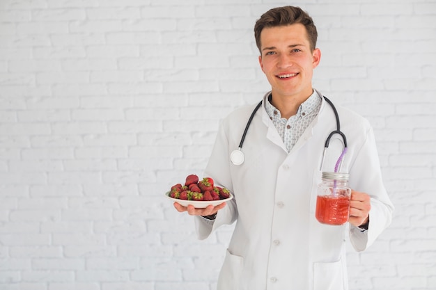
[[[322,172],[316,197],[316,219],[326,225],[343,225],[350,215],[348,173]]]

